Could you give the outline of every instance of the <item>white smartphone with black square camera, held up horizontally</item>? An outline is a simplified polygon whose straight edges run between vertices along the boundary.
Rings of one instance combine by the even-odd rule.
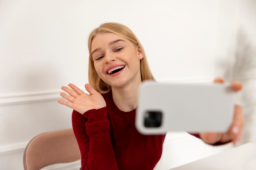
[[[233,115],[234,91],[227,84],[144,81],[139,89],[135,126],[145,135],[226,132]]]

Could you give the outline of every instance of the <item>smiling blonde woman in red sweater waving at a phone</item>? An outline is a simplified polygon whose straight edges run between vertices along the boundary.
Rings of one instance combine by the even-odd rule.
[[[82,170],[153,170],[162,155],[165,135],[141,135],[135,128],[139,86],[154,80],[144,50],[132,31],[118,23],[94,29],[88,40],[89,84],[84,93],[63,86],[59,100],[74,109],[72,124],[81,151]],[[222,82],[222,79],[217,79]],[[235,91],[241,84],[231,84]],[[240,140],[243,113],[235,108],[234,122],[225,134],[201,133],[209,144]]]

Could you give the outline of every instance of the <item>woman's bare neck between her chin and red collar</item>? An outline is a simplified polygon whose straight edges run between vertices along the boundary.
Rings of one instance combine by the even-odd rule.
[[[129,112],[137,107],[140,84],[138,82],[122,88],[112,88],[113,100],[120,110]]]

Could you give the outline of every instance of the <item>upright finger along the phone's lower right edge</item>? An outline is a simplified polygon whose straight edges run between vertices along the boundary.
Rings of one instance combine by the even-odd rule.
[[[232,136],[234,136],[232,142],[236,144],[239,142],[243,135],[244,128],[244,117],[243,117],[243,109],[239,105],[235,105],[235,113],[234,120],[231,126]]]

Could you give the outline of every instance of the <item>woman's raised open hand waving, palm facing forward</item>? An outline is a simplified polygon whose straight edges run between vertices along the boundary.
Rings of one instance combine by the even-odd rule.
[[[70,107],[77,112],[83,114],[91,109],[99,109],[106,106],[106,102],[102,95],[95,91],[90,84],[85,84],[85,89],[90,93],[90,95],[84,93],[80,88],[76,87],[74,84],[68,84],[68,87],[62,86],[61,89],[68,93],[61,93],[61,97],[66,100],[58,100],[59,104],[63,104]]]

